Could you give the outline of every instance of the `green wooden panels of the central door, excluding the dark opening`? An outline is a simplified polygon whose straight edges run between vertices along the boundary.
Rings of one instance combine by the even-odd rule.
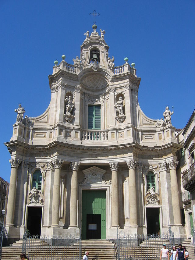
[[[83,191],[82,197],[82,239],[86,239],[87,214],[101,215],[101,239],[106,239],[106,191]]]

